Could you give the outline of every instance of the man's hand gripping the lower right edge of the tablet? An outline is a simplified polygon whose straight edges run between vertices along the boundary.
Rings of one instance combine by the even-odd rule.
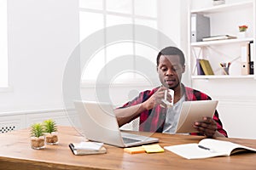
[[[194,127],[207,138],[213,138],[218,134],[217,123],[211,117],[203,117],[201,122],[195,122]]]

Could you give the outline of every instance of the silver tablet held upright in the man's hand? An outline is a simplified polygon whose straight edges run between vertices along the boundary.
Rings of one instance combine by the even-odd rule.
[[[176,133],[197,132],[193,127],[194,123],[202,121],[203,116],[213,117],[217,105],[217,100],[184,101],[177,122]]]

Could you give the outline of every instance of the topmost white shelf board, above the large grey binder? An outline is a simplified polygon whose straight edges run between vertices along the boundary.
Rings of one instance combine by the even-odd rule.
[[[200,8],[200,9],[193,9],[190,13],[197,13],[197,14],[213,14],[213,13],[220,13],[220,12],[227,12],[232,10],[237,10],[240,8],[251,8],[253,6],[253,1],[247,1],[243,3],[232,3],[232,4],[223,4],[223,5],[216,5],[210,8]]]

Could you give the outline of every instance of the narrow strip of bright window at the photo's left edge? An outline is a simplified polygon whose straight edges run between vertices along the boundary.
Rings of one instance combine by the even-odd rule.
[[[0,88],[8,88],[7,0],[0,0]]]

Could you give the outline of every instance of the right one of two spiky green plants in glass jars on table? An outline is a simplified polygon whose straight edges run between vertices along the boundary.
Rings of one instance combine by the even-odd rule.
[[[58,144],[58,133],[55,121],[52,119],[43,122],[46,144]]]

